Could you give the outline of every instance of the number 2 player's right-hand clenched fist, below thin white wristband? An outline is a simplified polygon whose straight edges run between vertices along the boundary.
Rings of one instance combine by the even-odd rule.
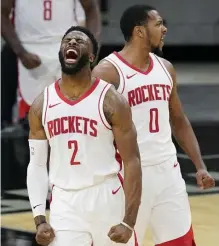
[[[122,224],[113,226],[108,237],[116,243],[127,243],[132,236],[132,231]]]

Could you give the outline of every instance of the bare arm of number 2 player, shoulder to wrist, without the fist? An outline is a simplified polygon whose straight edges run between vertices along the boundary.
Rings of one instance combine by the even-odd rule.
[[[104,113],[112,126],[117,148],[124,163],[125,217],[131,227],[136,223],[141,202],[142,173],[137,134],[132,122],[131,109],[126,99],[110,88],[104,99]]]

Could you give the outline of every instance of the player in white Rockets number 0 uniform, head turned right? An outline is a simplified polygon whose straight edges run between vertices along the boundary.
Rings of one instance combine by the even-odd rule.
[[[135,5],[122,15],[126,44],[99,63],[93,76],[112,83],[128,100],[137,129],[142,162],[142,201],[136,223],[140,245],[150,224],[156,245],[194,246],[191,213],[171,139],[191,158],[202,189],[214,186],[178,94],[173,65],[151,50],[163,42],[166,27],[159,13]]]

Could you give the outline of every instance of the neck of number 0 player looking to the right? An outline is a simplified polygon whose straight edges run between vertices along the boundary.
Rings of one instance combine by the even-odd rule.
[[[127,60],[131,65],[145,70],[149,65],[149,53],[151,49],[146,45],[134,44],[131,41],[127,43],[120,54]]]

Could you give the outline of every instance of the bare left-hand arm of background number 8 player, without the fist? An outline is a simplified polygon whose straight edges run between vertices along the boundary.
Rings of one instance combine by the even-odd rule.
[[[2,23],[1,23],[1,33],[2,37],[5,41],[11,46],[14,53],[19,56],[24,52],[24,47],[22,46],[14,27],[9,19],[9,15],[13,8],[15,0],[2,0],[1,3],[1,15],[2,15]]]

